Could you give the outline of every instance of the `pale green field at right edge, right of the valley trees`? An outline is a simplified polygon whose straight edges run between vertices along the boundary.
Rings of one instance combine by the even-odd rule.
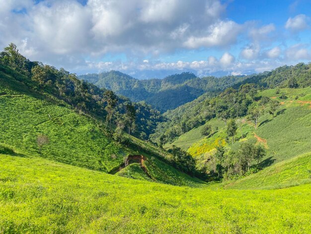
[[[308,104],[285,103],[280,111],[282,114],[273,119],[263,116],[256,131],[267,140],[267,157],[273,157],[275,162],[311,151],[311,108]]]

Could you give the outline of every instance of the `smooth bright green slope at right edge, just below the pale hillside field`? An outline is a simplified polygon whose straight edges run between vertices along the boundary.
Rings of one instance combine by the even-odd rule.
[[[278,189],[311,183],[311,153],[276,163],[264,170],[228,182],[225,188],[234,189]]]

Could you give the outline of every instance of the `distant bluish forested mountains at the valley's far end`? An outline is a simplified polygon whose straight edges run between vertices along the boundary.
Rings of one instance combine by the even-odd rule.
[[[80,75],[78,78],[98,87],[111,89],[134,102],[146,101],[161,112],[191,102],[204,93],[215,95],[246,79],[243,76],[198,78],[192,73],[184,72],[164,79],[138,80],[118,71]]]

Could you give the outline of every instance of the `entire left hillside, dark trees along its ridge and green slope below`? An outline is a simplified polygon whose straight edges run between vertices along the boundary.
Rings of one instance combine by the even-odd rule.
[[[30,62],[13,44],[0,56],[0,110],[1,153],[112,174],[131,166],[135,155],[144,155],[140,167],[152,181],[202,183],[192,177],[193,165],[132,135],[147,138],[155,128],[160,115],[149,105],[100,90],[63,69]]]

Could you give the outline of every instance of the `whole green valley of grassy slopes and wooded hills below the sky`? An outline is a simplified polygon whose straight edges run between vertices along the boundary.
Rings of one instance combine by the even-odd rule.
[[[204,89],[158,111],[21,54],[0,61],[0,233],[311,232],[310,64],[173,75],[160,89]]]

